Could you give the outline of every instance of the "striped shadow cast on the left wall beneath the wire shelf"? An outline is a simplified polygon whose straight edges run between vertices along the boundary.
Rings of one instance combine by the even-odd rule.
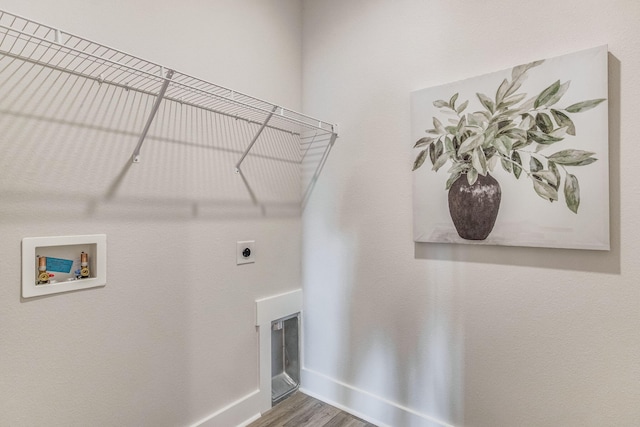
[[[266,127],[239,174],[234,166],[261,123],[165,99],[140,163],[132,165],[152,92],[9,56],[0,58],[0,77],[0,192],[4,207],[20,205],[20,212],[116,219],[298,215],[305,171],[316,170],[329,145]]]

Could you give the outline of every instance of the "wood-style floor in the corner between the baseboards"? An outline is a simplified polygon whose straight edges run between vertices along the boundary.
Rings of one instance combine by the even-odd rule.
[[[298,391],[247,427],[376,426]]]

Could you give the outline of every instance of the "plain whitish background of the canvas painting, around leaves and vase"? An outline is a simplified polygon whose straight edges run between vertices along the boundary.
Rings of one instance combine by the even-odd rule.
[[[483,109],[476,92],[494,98],[503,79],[511,80],[511,68],[473,77],[460,82],[428,88],[411,94],[412,143],[426,136],[437,117],[449,125],[447,116],[433,106],[433,101],[449,101],[459,93],[456,105],[469,100],[465,113]],[[528,79],[516,93],[526,93],[526,99],[537,96],[556,80],[571,80],[568,91],[553,107],[564,109],[569,105],[590,99],[608,98],[607,47],[601,46],[547,59],[528,71]],[[510,246],[539,246],[575,249],[609,249],[609,157],[607,101],[581,113],[569,114],[576,127],[576,135],[567,135],[563,141],[541,151],[551,155],[564,149],[595,152],[598,161],[587,166],[567,167],[580,184],[578,214],[565,203],[563,180],[558,190],[559,200],[550,203],[533,190],[531,179],[523,171],[520,179],[507,173],[500,162],[491,175],[500,183],[502,202],[493,231],[486,240],[465,240],[458,236],[447,202],[445,183],[449,178],[450,163],[438,172],[431,170],[429,159],[413,171],[414,182],[414,240],[416,242],[454,242]],[[526,150],[534,150],[532,144]],[[414,149],[414,158],[421,149]],[[529,162],[522,156],[523,164]],[[528,167],[527,167],[528,169]]]

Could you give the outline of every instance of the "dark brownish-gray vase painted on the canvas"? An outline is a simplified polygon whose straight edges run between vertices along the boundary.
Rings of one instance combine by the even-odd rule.
[[[478,175],[473,185],[461,175],[449,189],[449,213],[460,237],[486,239],[496,223],[501,197],[500,184],[491,175]]]

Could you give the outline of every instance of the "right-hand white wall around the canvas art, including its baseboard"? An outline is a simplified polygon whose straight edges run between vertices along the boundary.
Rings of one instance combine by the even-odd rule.
[[[638,2],[303,16],[303,107],[340,125],[303,221],[305,389],[392,426],[637,425]],[[602,44],[611,251],[414,244],[410,92]]]

